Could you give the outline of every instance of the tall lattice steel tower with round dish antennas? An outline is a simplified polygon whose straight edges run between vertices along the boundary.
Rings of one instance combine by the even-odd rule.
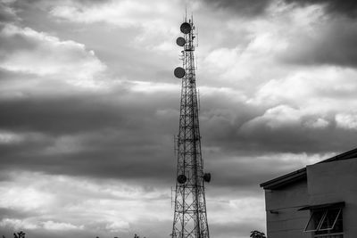
[[[203,173],[198,102],[195,85],[195,26],[185,20],[180,30],[183,37],[176,43],[182,49],[183,67],[174,70],[182,78],[178,135],[178,168],[175,189],[175,212],[172,238],[209,238],[204,183],[211,174]]]

